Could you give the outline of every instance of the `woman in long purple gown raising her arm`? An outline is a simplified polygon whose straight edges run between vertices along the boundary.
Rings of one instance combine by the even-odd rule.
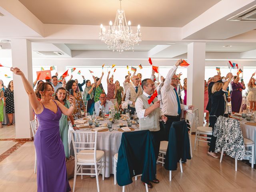
[[[68,192],[71,190],[67,178],[66,157],[60,138],[59,120],[64,115],[70,116],[74,110],[75,99],[70,97],[70,108],[58,100],[52,100],[54,89],[50,83],[40,83],[34,92],[23,72],[11,68],[20,75],[29,101],[38,118],[38,129],[34,138],[37,157],[37,191]],[[38,98],[41,100],[38,101]]]

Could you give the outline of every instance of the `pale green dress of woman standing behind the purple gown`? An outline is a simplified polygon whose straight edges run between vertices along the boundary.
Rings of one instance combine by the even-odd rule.
[[[65,101],[64,106],[66,108],[70,108],[69,102]],[[66,156],[66,158],[69,158],[69,153],[68,153],[68,116],[64,115],[63,113],[60,118],[60,138],[64,145],[65,156]]]

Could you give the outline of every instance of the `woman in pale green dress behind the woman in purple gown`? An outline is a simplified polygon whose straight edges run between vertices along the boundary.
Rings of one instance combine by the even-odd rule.
[[[56,90],[55,93],[55,99],[58,100],[61,104],[63,104],[66,108],[70,108],[70,104],[67,101],[67,92],[66,89],[63,87],[60,87]],[[79,129],[74,124],[74,118],[72,115],[66,116],[62,114],[60,118],[60,138],[64,145],[64,151],[66,158],[69,158],[69,152],[68,152],[68,118],[70,122],[72,123],[72,126],[74,129]]]

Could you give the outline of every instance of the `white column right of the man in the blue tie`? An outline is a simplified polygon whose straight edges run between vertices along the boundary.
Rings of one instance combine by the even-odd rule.
[[[187,105],[194,105],[199,110],[200,126],[204,115],[204,68],[205,42],[188,44]],[[194,131],[194,128],[192,128]]]

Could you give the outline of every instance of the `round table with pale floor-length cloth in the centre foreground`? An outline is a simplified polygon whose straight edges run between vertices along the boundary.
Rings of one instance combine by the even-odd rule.
[[[82,118],[81,118],[82,120]],[[108,119],[100,121],[101,124],[109,122]],[[118,124],[127,125],[127,121],[119,120],[118,123],[113,123],[112,128],[113,131],[105,131],[105,132],[98,132],[97,136],[97,150],[102,150],[105,153],[105,177],[110,177],[110,174],[114,174],[114,155],[118,153],[118,149],[121,144],[122,133],[118,131],[119,126]],[[101,125],[100,125],[101,126]],[[138,131],[139,129],[132,125],[134,131]],[[72,124],[69,125],[69,130],[73,130]],[[91,131],[91,128],[80,128],[80,130],[76,131]],[[70,146],[71,136],[70,132],[68,132],[68,144]],[[73,147],[73,146],[70,146]]]

